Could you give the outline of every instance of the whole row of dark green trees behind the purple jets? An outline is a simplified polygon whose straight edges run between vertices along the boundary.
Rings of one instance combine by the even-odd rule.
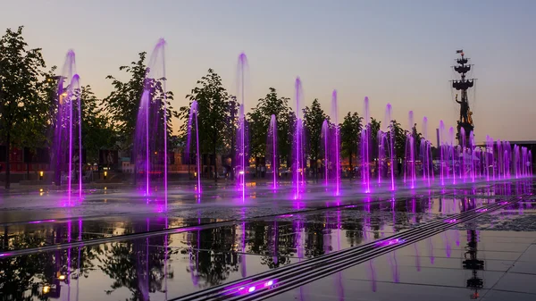
[[[40,48],[29,49],[22,37],[22,27],[7,29],[0,39],[0,143],[6,146],[7,154],[13,146],[29,147],[51,146],[54,133],[54,116],[57,112],[56,67],[46,69]],[[239,126],[239,103],[230,95],[222,83],[222,78],[212,69],[197,80],[196,88],[186,96],[188,106],[180,107],[178,112],[171,105],[173,93],[163,91],[163,80],[153,79],[147,83],[146,53],[138,54],[138,60],[123,65],[119,71],[128,80],[121,81],[113,75],[113,87],[109,96],[99,99],[89,85],[80,88],[82,108],[82,143],[88,162],[96,162],[100,149],[118,149],[130,152],[136,129],[140,98],[144,88],[151,87],[151,97],[167,102],[168,146],[182,148],[186,152],[188,132],[188,113],[193,101],[197,101],[197,127],[200,140],[200,153],[223,157],[235,157],[236,131]],[[292,148],[292,133],[296,126],[297,115],[289,105],[289,98],[280,96],[275,88],[259,99],[257,105],[247,113],[249,132],[249,156],[262,157],[266,150],[266,135],[271,116],[277,120],[278,154],[281,162],[289,162]],[[172,120],[179,118],[180,129],[173,132]],[[306,158],[312,162],[322,159],[321,131],[322,122],[330,120],[318,99],[303,109],[308,150]],[[368,124],[368,125],[367,125]],[[359,146],[359,133],[364,126],[370,126],[376,133],[381,122],[371,119],[364,121],[358,113],[350,113],[339,124],[341,153],[350,158],[356,155]],[[393,121],[389,125],[396,134],[398,157],[403,156],[407,131]],[[415,130],[416,133],[416,130]],[[376,135],[371,135],[372,145],[377,146]],[[6,155],[5,187],[9,188],[9,155]],[[211,160],[214,164],[216,160]],[[231,163],[231,165],[234,165]],[[214,171],[216,171],[214,166]]]

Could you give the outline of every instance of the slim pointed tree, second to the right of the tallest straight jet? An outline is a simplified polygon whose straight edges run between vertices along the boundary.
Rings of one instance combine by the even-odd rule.
[[[323,112],[322,106],[315,98],[311,107],[306,106],[304,109],[304,128],[309,141],[309,159],[314,161],[314,174],[318,177],[316,161],[320,154],[320,137],[322,134],[322,123],[324,120],[330,121],[330,116]],[[311,166],[313,168],[313,166]]]

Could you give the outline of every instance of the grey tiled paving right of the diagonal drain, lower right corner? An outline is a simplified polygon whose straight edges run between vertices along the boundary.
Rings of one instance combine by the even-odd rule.
[[[536,300],[536,232],[475,232],[478,290],[467,288],[473,271],[463,268],[467,232],[448,230],[269,300]]]

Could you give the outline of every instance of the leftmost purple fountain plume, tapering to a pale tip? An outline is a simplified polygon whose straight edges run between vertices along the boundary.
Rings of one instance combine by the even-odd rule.
[[[80,77],[76,74],[74,51],[70,50],[63,64],[57,88],[56,123],[54,129],[54,181],[67,181],[68,204],[71,205],[72,183],[78,180],[78,196],[82,198],[82,135]],[[78,155],[75,153],[78,151]],[[66,173],[63,177],[62,174]]]

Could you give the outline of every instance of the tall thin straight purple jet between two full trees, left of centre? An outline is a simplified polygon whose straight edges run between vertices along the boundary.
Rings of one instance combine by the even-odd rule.
[[[242,166],[242,174],[241,177],[239,177],[240,180],[240,187],[242,189],[242,202],[246,199],[246,164],[249,165],[249,163],[246,160],[247,156],[247,135],[246,135],[246,116],[244,114],[244,111],[246,109],[245,107],[245,99],[246,99],[246,73],[247,73],[247,56],[246,54],[242,53],[239,55],[239,63],[238,63],[238,76],[237,76],[237,98],[240,102],[240,113],[239,113],[239,163]]]

